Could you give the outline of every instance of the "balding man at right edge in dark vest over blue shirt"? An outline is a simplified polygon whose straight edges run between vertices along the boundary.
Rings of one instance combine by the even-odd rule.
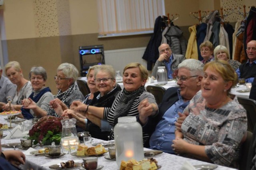
[[[239,79],[245,79],[246,83],[252,83],[256,75],[256,40],[247,43],[246,53],[249,59],[236,69],[236,73]]]

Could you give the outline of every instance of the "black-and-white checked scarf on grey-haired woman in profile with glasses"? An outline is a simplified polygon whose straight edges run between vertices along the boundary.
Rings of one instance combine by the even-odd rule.
[[[65,103],[66,99],[73,93],[73,91],[77,90],[77,85],[71,85],[66,91],[62,92],[61,90],[58,91],[57,95],[54,97],[55,99],[60,99],[63,103]],[[65,103],[66,104],[66,103]],[[59,117],[58,114],[55,113],[54,109],[49,106],[47,115]]]

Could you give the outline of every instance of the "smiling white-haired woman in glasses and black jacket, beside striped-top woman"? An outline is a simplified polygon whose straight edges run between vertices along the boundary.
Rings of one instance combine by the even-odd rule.
[[[89,105],[96,107],[112,107],[119,92],[116,87],[116,71],[111,65],[100,65],[94,68],[94,83],[98,89]],[[90,132],[93,138],[108,140],[112,127],[107,120],[100,119],[94,115],[83,116],[83,113],[66,111],[69,117],[77,119],[77,125]]]

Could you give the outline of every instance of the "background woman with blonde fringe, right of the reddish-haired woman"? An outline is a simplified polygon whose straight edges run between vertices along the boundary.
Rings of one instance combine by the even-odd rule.
[[[228,49],[223,45],[218,45],[217,47],[215,47],[213,53],[214,53],[215,60],[222,59],[227,61],[235,71],[236,69],[238,69],[239,65],[241,65],[239,61],[230,59]]]

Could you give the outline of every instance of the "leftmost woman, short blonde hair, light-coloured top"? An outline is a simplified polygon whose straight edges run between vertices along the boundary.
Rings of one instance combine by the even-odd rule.
[[[22,74],[22,69],[20,68],[20,63],[17,61],[10,61],[5,65],[6,76],[10,81],[17,85],[15,95],[12,96],[11,108],[9,103],[7,103],[3,109],[6,111],[16,110],[19,111],[22,107],[22,100],[27,99],[32,93],[32,86],[30,81],[25,79]]]

